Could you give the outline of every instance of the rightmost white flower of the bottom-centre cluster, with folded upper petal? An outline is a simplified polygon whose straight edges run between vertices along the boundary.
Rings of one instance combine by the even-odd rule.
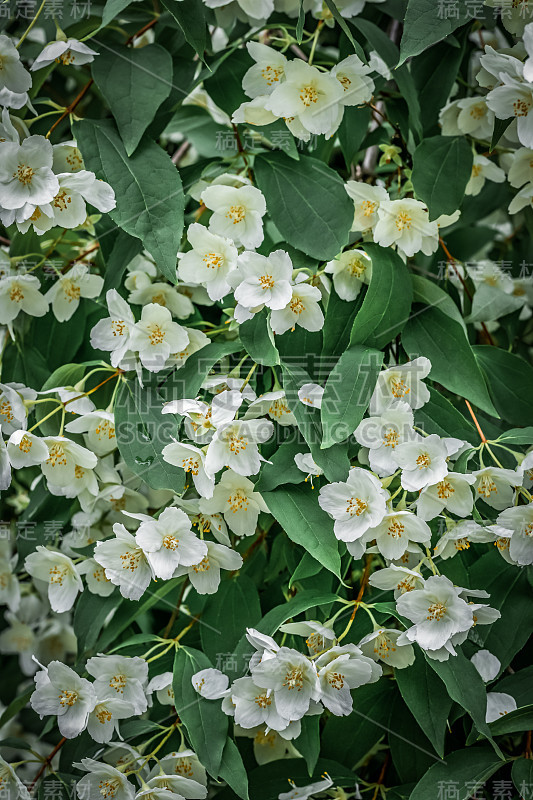
[[[373,683],[381,667],[354,644],[336,646],[316,660],[320,683],[320,701],[336,716],[347,716],[353,708],[350,689]]]

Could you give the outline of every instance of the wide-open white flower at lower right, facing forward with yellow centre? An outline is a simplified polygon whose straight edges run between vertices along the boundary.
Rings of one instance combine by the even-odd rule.
[[[423,650],[439,650],[455,633],[470,630],[472,609],[460,593],[444,575],[432,575],[422,589],[398,597],[398,612],[414,623],[402,634],[401,643],[417,642]]]

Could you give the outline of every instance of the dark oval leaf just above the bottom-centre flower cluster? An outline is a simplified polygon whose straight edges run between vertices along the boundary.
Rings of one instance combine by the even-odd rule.
[[[215,595],[208,596],[200,620],[202,649],[217,663],[221,653],[232,653],[245,628],[261,619],[261,606],[255,583],[247,575],[223,581]]]

